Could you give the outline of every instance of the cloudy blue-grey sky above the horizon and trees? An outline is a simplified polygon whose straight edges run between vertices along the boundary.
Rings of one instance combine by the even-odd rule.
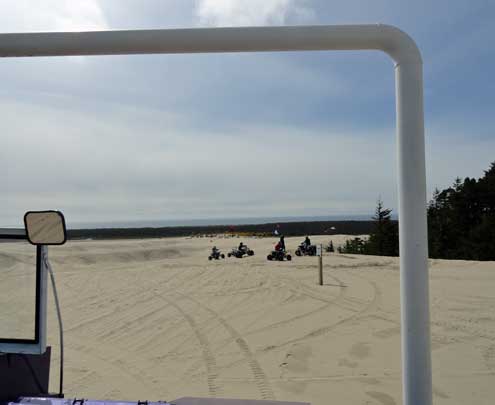
[[[0,31],[387,23],[425,62],[428,187],[495,160],[493,0],[0,0]],[[394,77],[374,52],[0,61],[0,225],[396,208]]]

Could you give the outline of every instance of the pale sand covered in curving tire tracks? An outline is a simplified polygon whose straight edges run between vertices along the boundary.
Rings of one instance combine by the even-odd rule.
[[[334,243],[345,236],[332,237]],[[294,251],[302,238],[288,238]],[[327,243],[328,236],[313,237]],[[181,396],[394,405],[401,400],[398,259],[326,254],[209,262],[239,239],[77,241],[50,248],[65,326],[67,396]],[[2,270],[12,267],[1,246]],[[7,252],[7,254],[6,254]],[[493,404],[495,263],[432,260],[435,404]],[[9,284],[10,283],[10,284]],[[0,273],[2,303],[12,271]],[[57,325],[49,302],[57,389]]]

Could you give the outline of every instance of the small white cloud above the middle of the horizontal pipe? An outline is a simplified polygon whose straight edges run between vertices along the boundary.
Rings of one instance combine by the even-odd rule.
[[[304,0],[200,0],[196,15],[201,24],[214,26],[282,25],[314,19]]]

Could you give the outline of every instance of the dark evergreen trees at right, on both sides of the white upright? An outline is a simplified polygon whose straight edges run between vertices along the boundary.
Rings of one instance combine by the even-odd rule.
[[[379,200],[369,238],[349,240],[339,252],[398,256],[399,225],[391,212]],[[479,179],[457,178],[435,190],[427,212],[431,258],[495,260],[495,162]]]

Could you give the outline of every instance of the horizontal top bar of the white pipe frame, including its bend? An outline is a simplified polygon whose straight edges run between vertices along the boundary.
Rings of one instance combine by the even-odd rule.
[[[421,62],[414,41],[383,24],[0,34],[0,57],[359,49]]]

